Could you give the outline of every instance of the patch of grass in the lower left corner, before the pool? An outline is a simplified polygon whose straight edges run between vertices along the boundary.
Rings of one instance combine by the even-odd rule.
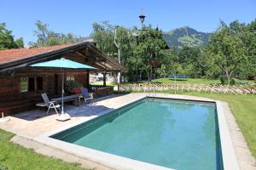
[[[82,170],[76,163],[67,163],[53,157],[43,156],[33,150],[28,150],[9,140],[12,133],[0,129],[0,169],[53,169],[53,170]]]

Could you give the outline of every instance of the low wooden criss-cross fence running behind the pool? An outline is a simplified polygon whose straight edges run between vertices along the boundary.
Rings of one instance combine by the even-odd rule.
[[[256,94],[256,88],[248,85],[221,85],[221,84],[189,84],[189,83],[133,83],[120,84],[120,91],[137,91],[137,92],[158,92],[158,91],[197,91],[207,93],[222,94]]]

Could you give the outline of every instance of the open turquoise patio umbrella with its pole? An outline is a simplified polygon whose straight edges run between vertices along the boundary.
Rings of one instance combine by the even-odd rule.
[[[72,61],[70,59],[55,59],[50,61],[45,61],[42,63],[36,63],[33,65],[30,65],[32,67],[57,67],[61,68],[62,70],[62,93],[61,93],[61,114],[64,114],[64,102],[63,102],[63,96],[64,96],[64,68],[69,69],[96,69],[95,67],[92,67],[90,65],[84,65],[75,61]]]

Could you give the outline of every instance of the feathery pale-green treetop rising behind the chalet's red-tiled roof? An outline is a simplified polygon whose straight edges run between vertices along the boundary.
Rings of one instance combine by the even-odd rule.
[[[37,30],[34,31],[34,36],[36,36],[38,39],[36,42],[29,42],[30,46],[34,48],[61,45],[65,43],[75,43],[81,41],[80,37],[77,37],[72,33],[55,33],[55,31],[49,30],[49,25],[44,24],[40,20],[37,20],[35,25],[37,26]]]

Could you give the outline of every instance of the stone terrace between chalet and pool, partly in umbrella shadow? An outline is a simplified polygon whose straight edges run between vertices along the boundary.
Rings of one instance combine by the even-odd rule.
[[[26,111],[9,116],[10,121],[1,123],[0,128],[11,133],[32,138],[42,133],[67,126],[73,122],[91,119],[98,116],[102,111],[119,107],[119,105],[122,105],[125,101],[127,102],[132,99],[136,100],[143,97],[145,97],[145,94],[112,95],[97,99],[96,103],[92,105],[65,105],[65,111],[67,111],[71,116],[71,119],[67,122],[56,121],[55,111],[51,111],[49,115],[46,115],[46,111],[42,110]]]

